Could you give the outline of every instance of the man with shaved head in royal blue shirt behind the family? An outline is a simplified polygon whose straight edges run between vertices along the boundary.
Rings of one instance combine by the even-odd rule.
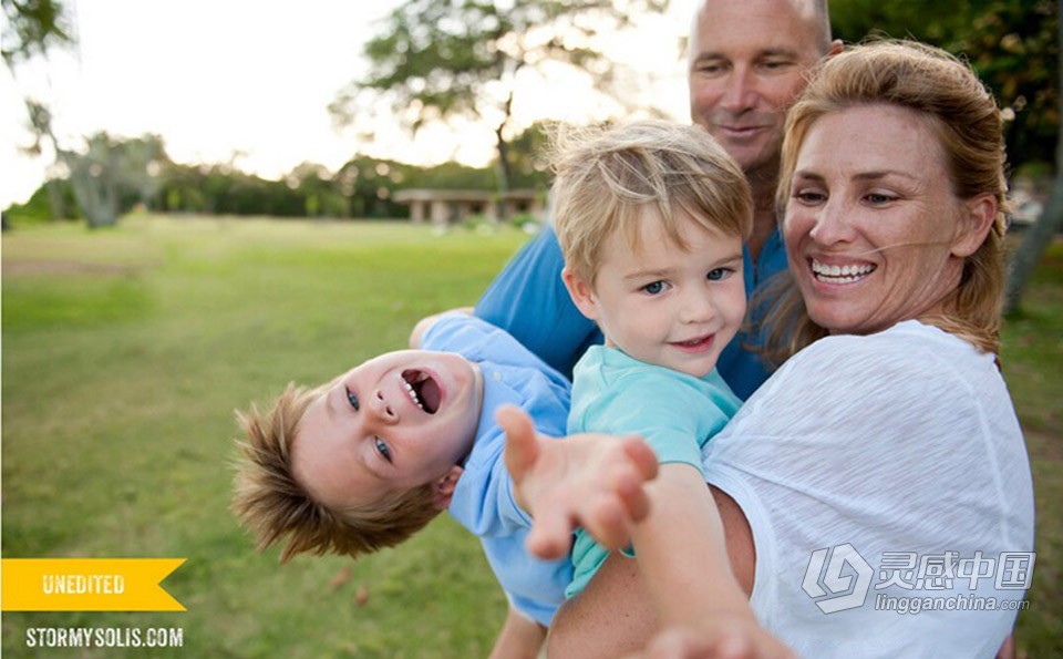
[[[830,40],[826,0],[705,0],[689,50],[690,114],[726,150],[753,189],[753,234],[745,249],[745,289],[752,294],[786,268],[775,218],[775,186],[786,109],[822,58],[842,50]],[[601,332],[572,305],[561,282],[561,258],[550,229],[524,247],[476,305],[476,316],[506,329],[547,363],[570,374]],[[740,333],[719,370],[743,400],[767,378]]]

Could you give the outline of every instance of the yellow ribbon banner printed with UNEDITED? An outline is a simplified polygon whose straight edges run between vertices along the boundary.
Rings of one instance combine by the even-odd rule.
[[[159,583],[184,558],[4,558],[4,611],[183,611]]]

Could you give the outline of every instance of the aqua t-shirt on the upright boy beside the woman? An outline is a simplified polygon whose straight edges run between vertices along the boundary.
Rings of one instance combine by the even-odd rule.
[[[694,378],[641,362],[617,348],[595,346],[576,364],[568,434],[638,434],[661,464],[689,464],[704,476],[702,446],[741,405],[715,369]],[[608,555],[589,533],[577,529],[566,597],[582,590]]]

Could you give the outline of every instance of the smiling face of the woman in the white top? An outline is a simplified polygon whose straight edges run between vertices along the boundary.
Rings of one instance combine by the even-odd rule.
[[[816,325],[869,333],[942,310],[962,272],[967,204],[926,120],[892,105],[826,114],[789,183],[786,250]]]

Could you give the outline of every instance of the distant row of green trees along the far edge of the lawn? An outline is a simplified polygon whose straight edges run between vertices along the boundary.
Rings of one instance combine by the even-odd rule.
[[[39,109],[39,117],[47,112]],[[543,188],[547,173],[524,151],[541,136],[515,142],[519,163],[515,181]],[[443,163],[421,167],[357,155],[332,174],[322,165],[302,163],[280,181],[240,172],[229,164],[186,165],[166,155],[161,137],[124,140],[97,133],[79,151],[62,151],[60,167],[25,204],[4,210],[16,224],[48,219],[89,220],[104,226],[137,206],[168,213],[269,215],[320,218],[402,218],[409,207],[396,204],[402,188],[489,191],[491,168]]]

